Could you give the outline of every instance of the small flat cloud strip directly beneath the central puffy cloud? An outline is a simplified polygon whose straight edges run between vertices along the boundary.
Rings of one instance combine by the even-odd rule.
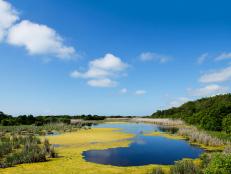
[[[117,82],[113,81],[111,79],[105,78],[105,79],[93,79],[89,80],[87,82],[88,85],[93,86],[93,87],[115,87]]]

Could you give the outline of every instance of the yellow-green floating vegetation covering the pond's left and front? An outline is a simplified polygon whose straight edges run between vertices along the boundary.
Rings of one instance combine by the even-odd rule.
[[[113,128],[94,128],[47,137],[56,148],[60,158],[48,162],[22,164],[13,168],[0,169],[1,174],[147,174],[155,167],[161,167],[165,173],[170,171],[167,165],[147,165],[140,167],[117,167],[87,162],[82,152],[90,149],[127,147],[134,135],[115,131]]]

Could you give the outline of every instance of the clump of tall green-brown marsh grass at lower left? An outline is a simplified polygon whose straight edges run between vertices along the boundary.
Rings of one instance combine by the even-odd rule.
[[[48,157],[57,157],[54,147],[49,144],[48,140],[42,144],[39,138],[31,135],[1,138],[0,154],[0,168],[23,163],[44,162]]]

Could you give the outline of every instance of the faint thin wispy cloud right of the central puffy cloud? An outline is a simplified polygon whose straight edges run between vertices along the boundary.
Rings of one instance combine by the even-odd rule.
[[[166,63],[168,62],[171,58],[166,55],[161,55],[153,52],[143,52],[139,56],[141,61],[158,61],[160,63]]]

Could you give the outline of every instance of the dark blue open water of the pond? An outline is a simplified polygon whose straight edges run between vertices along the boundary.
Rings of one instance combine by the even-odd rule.
[[[100,124],[94,127],[122,128],[123,132],[133,133],[129,147],[83,152],[86,161],[114,166],[141,166],[147,164],[174,164],[183,158],[197,158],[203,150],[185,140],[173,140],[161,136],[144,136],[143,133],[161,131],[152,124]]]

